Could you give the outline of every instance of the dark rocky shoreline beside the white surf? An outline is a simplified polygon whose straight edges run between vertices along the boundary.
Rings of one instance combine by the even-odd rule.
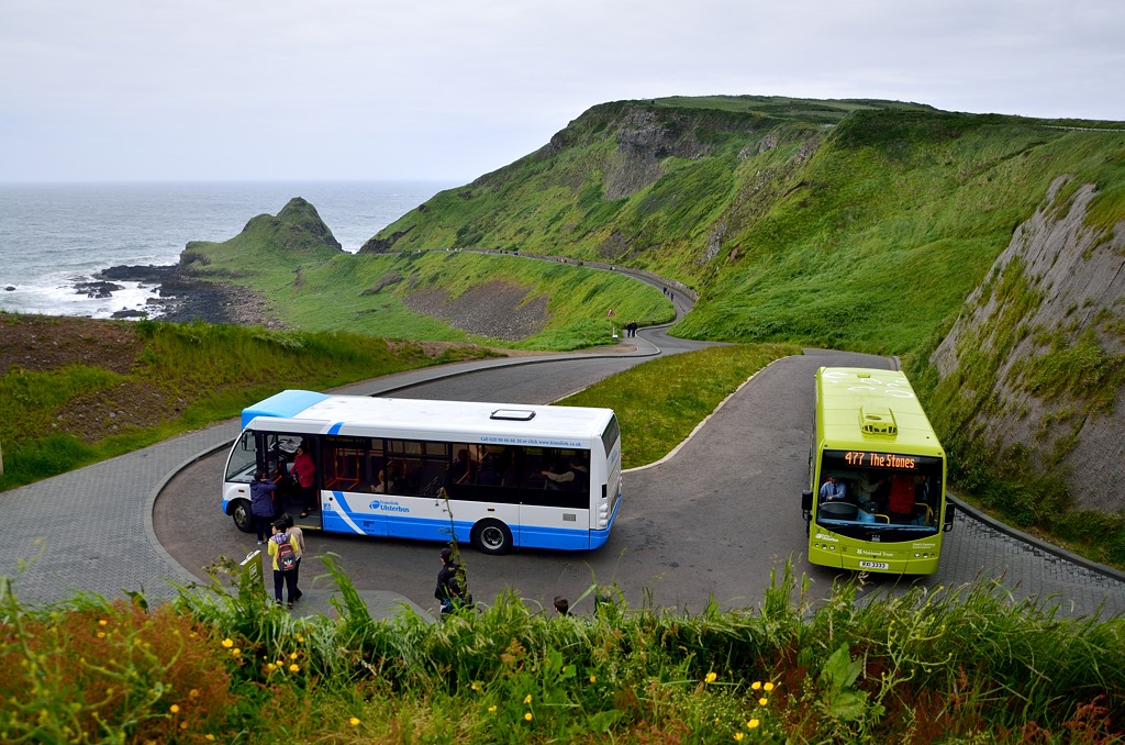
[[[177,323],[201,321],[284,327],[270,315],[264,298],[256,293],[190,277],[179,264],[118,264],[94,275],[93,281],[75,282],[74,287],[80,293],[109,297],[115,290],[124,289],[116,284],[122,281],[152,285],[155,297],[147,300],[146,309],[118,311],[112,314],[115,318],[155,317]]]

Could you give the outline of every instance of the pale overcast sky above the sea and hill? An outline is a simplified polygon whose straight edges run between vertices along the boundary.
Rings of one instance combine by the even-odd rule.
[[[1125,120],[1125,2],[0,0],[0,181],[468,181],[718,93]]]

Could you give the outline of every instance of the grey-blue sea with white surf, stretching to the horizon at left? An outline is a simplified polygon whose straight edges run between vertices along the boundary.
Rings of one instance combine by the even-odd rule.
[[[345,251],[454,181],[0,183],[0,312],[108,318],[156,288],[91,297],[75,286],[118,264],[174,264],[189,241],[226,241],[303,197]]]

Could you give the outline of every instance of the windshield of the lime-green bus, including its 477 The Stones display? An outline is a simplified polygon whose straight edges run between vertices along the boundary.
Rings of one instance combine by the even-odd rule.
[[[825,450],[816,521],[834,532],[872,541],[915,540],[938,532],[942,458]]]

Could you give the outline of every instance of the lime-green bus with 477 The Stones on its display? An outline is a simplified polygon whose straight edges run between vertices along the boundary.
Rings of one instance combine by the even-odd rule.
[[[953,528],[945,451],[902,372],[817,370],[809,491],[801,494],[809,562],[933,574]]]

